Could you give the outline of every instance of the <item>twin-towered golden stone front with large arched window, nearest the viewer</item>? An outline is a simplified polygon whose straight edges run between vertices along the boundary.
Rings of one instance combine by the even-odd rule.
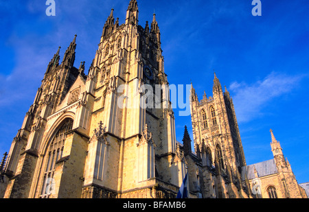
[[[113,9],[95,58],[73,67],[76,36],[49,62],[5,165],[5,198],[176,197],[185,176],[155,14]],[[153,92],[150,92],[153,91]]]

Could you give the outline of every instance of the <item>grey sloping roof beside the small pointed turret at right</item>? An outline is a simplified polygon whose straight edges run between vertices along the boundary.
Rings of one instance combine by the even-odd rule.
[[[275,159],[271,159],[268,161],[263,161],[260,163],[255,163],[252,165],[247,165],[245,167],[242,167],[242,180],[245,180],[245,174],[247,174],[247,178],[248,180],[251,180],[253,178],[255,178],[254,176],[254,167],[256,169],[256,171],[258,172],[258,177],[262,177],[262,176],[268,176],[271,174],[276,174],[277,171],[277,167],[276,167],[276,163],[275,163]]]

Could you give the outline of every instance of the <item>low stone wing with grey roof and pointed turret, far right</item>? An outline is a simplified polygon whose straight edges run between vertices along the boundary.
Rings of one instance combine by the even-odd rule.
[[[298,185],[288,159],[271,130],[271,151],[274,158],[243,167],[242,178],[249,180],[256,198],[307,198]]]

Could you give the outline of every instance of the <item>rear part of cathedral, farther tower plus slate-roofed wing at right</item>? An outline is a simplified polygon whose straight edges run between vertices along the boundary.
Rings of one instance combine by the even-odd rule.
[[[307,198],[272,130],[274,158],[246,165],[233,100],[216,74],[213,97],[198,101],[192,86],[190,101],[195,153],[186,128],[182,147],[190,192],[203,198]]]

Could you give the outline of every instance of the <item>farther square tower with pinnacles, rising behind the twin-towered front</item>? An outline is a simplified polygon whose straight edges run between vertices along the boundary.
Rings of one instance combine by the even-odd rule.
[[[247,198],[249,184],[242,183],[246,165],[233,100],[214,74],[213,97],[198,101],[192,86],[190,97],[194,149],[203,162],[203,196]]]

